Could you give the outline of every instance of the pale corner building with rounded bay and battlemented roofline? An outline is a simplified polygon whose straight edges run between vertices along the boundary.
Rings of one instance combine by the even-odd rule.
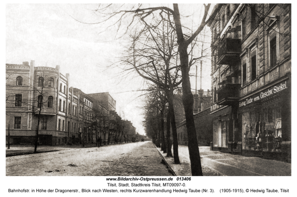
[[[68,83],[69,74],[62,75],[59,66],[35,67],[33,60],[30,65],[6,64],[6,136],[9,130],[10,143],[34,144],[40,106],[39,144],[69,141]]]

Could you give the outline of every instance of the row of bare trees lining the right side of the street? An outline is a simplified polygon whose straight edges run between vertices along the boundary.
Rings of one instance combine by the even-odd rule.
[[[124,36],[128,35],[130,46],[121,61],[115,65],[121,66],[128,73],[137,72],[145,79],[147,134],[157,146],[161,144],[162,150],[167,152],[168,156],[172,156],[173,144],[174,162],[177,164],[180,161],[173,95],[178,88],[182,89],[192,175],[202,176],[189,71],[191,66],[204,56],[205,49],[200,38],[209,20],[207,16],[210,4],[203,4],[200,10],[196,10],[200,16],[198,21],[193,17],[190,22],[192,28],[186,27],[189,24],[182,24],[185,18],[191,17],[181,15],[178,4],[149,6],[151,4],[100,4],[95,10],[99,16],[97,24],[105,24],[108,27],[117,25],[117,34],[124,32]],[[199,25],[194,29],[193,23]],[[166,140],[163,129],[165,119]],[[170,140],[170,125],[173,142]]]

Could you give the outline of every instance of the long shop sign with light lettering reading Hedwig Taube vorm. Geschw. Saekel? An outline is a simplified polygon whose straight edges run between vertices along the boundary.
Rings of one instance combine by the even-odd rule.
[[[286,90],[288,87],[287,87],[287,82],[282,82],[282,83],[279,83],[273,87],[270,87],[264,91],[261,91],[257,94],[254,94],[253,96],[247,98],[246,100],[242,100],[239,102],[239,107],[242,107],[242,106],[246,106],[254,101],[257,101],[257,100],[261,100],[261,99],[264,99],[266,97],[269,97],[271,95],[274,95],[276,93],[279,93],[283,90]]]

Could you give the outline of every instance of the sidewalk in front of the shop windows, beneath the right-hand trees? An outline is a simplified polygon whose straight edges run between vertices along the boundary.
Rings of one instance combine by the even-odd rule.
[[[179,146],[181,164],[174,164],[173,157],[157,149],[177,176],[191,176],[187,146]],[[209,147],[199,147],[199,152],[204,176],[291,176],[291,163],[212,151]]]

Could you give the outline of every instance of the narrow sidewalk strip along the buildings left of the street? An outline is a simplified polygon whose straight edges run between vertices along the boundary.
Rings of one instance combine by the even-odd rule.
[[[106,146],[113,146],[113,145],[124,145],[123,144],[112,144],[112,145],[101,145],[101,147]],[[60,145],[60,146],[38,146],[37,153],[42,152],[53,152],[53,151],[60,151],[66,150],[71,148],[93,148],[97,147],[96,144],[86,144],[85,147],[82,145]],[[24,154],[33,154],[35,146],[30,145],[10,145],[10,149],[7,149],[8,146],[6,145],[6,157],[7,156],[17,156],[17,155],[24,155]]]

